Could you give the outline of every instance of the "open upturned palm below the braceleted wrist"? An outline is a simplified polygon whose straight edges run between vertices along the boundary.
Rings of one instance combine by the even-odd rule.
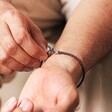
[[[44,64],[30,75],[19,101],[24,98],[32,101],[34,112],[74,112],[79,102],[71,73],[57,63]]]

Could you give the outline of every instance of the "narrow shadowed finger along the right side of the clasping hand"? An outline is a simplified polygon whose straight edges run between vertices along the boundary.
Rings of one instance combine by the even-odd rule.
[[[41,30],[30,19],[29,19],[29,25],[30,25],[30,32],[31,32],[33,39],[39,46],[41,46],[41,48],[43,48],[46,51],[47,41],[45,40],[44,36],[42,35]]]

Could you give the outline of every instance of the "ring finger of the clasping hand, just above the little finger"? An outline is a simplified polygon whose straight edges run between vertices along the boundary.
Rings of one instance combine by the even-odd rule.
[[[24,66],[21,63],[14,60],[13,58],[7,56],[1,46],[0,46],[0,63],[6,66],[7,68],[15,70],[15,71],[32,70],[32,68]]]

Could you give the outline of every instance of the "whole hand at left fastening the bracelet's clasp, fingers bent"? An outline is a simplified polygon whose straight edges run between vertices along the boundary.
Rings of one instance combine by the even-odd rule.
[[[47,42],[39,28],[10,3],[0,1],[0,73],[29,71],[46,60]]]

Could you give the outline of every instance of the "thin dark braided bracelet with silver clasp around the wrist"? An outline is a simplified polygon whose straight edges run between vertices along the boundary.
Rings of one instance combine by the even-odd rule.
[[[63,54],[63,55],[70,56],[70,57],[74,58],[75,60],[77,60],[77,62],[79,63],[79,65],[82,68],[82,77],[81,77],[79,83],[77,84],[77,88],[80,87],[85,78],[85,69],[84,69],[84,65],[83,65],[82,61],[77,56],[75,56],[71,53],[63,52],[63,51],[56,51],[56,50],[54,50],[54,48],[51,48],[50,46],[48,46],[47,53],[48,53],[48,56],[51,56],[53,54],[58,54],[58,55]]]

